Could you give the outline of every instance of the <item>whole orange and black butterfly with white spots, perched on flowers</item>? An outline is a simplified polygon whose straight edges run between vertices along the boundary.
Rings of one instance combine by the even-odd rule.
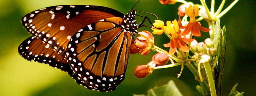
[[[33,36],[18,52],[28,61],[67,72],[87,89],[113,91],[124,80],[133,35],[147,19],[138,25],[136,15],[93,5],[35,10],[21,19]]]

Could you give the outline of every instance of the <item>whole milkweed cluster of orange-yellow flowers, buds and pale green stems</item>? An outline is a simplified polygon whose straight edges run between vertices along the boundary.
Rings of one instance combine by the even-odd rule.
[[[209,75],[212,74],[214,69],[216,69],[216,63],[218,62],[216,59],[218,53],[216,52],[219,44],[216,41],[220,41],[220,39],[215,40],[216,38],[213,38],[215,36],[214,32],[216,31],[216,28],[214,27],[215,22],[219,20],[219,18],[229,9],[221,12],[224,5],[222,2],[223,5],[220,6],[217,12],[214,12],[213,0],[213,6],[211,7],[210,12],[205,4],[205,1],[200,1],[202,5],[193,4],[191,2],[188,3],[184,0],[159,0],[159,2],[163,5],[175,4],[176,2],[183,3],[179,6],[177,14],[180,17],[183,16],[183,18],[166,21],[166,25],[161,20],[155,20],[151,27],[153,30],[152,34],[149,31],[138,33],[140,36],[132,42],[130,53],[141,53],[142,55],[147,55],[150,50],[158,53],[155,54],[152,60],[146,65],[139,65],[135,68],[134,75],[136,77],[144,78],[150,73],[153,73],[153,70],[155,69],[181,65],[181,72],[178,74],[178,77],[180,77],[184,65],[186,65],[195,75],[196,79],[200,80],[200,88],[203,88],[203,92],[200,92],[203,95],[216,95],[215,86],[212,84],[214,83],[212,82],[213,76]],[[232,7],[237,1],[238,0],[235,0],[230,6]],[[199,22],[201,20],[208,22],[209,28],[202,27],[201,23]],[[201,37],[201,31],[209,32],[210,38],[205,39],[204,42],[198,43],[193,37]],[[153,34],[161,35],[163,33],[170,38],[169,43],[162,45],[163,47],[169,47],[169,50],[167,51],[154,45]],[[193,53],[192,56],[189,56],[190,52]],[[170,61],[169,64],[168,61]],[[207,66],[208,64],[209,66]],[[205,71],[202,71],[204,68]],[[195,72],[195,70],[197,71]],[[206,82],[209,83],[206,84]],[[210,86],[210,89],[207,89],[209,88],[208,86]],[[209,91],[210,93],[207,93]]]

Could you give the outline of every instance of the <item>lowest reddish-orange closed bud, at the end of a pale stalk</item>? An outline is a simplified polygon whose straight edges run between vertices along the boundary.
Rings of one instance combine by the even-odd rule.
[[[139,65],[134,70],[134,75],[138,78],[144,78],[152,71],[148,69],[147,65]]]

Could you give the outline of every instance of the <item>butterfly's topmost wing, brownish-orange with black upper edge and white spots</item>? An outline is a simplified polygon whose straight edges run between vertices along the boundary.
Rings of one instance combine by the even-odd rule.
[[[123,16],[103,6],[59,5],[26,14],[21,23],[30,34],[63,54],[70,38],[84,26],[105,18]]]

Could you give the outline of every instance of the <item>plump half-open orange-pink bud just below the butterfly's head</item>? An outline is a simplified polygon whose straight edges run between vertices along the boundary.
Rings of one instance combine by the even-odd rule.
[[[137,37],[135,40],[135,45],[140,49],[140,53],[142,55],[147,55],[150,49],[153,47],[154,44],[154,37],[148,31],[139,32],[141,36]]]

